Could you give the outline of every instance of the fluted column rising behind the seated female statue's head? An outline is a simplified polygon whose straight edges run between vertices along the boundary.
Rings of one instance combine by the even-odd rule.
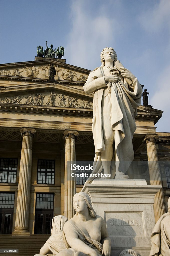
[[[72,218],[75,214],[73,208],[73,196],[76,193],[76,177],[71,174],[75,171],[71,170],[71,164],[76,161],[75,140],[78,136],[77,131],[64,131],[65,137],[65,173],[64,173],[64,215]]]

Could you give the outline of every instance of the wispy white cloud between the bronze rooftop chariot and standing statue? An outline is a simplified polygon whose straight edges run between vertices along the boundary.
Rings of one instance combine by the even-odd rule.
[[[68,35],[67,61],[72,65],[93,69],[96,67],[96,56],[100,65],[99,53],[114,41],[114,34],[119,26],[114,18],[107,17],[105,8],[101,13],[102,8],[97,11],[96,7],[96,12],[89,15],[90,2],[86,3],[74,0],[72,4],[72,28]]]

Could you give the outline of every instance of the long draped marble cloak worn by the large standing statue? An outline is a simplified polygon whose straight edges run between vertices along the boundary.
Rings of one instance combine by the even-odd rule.
[[[116,67],[116,66],[115,66]],[[84,91],[94,92],[93,100],[93,138],[95,145],[95,168],[93,173],[100,173],[103,169],[100,153],[105,151],[102,127],[102,97],[106,83],[102,67],[90,72]],[[111,85],[111,128],[114,130],[114,155],[110,169],[111,178],[115,171],[126,173],[134,159],[132,138],[136,130],[134,116],[137,115],[137,107],[141,103],[142,87],[137,80],[129,85],[121,75],[119,80]],[[99,162],[98,162],[99,161]],[[91,178],[92,180],[93,178]]]

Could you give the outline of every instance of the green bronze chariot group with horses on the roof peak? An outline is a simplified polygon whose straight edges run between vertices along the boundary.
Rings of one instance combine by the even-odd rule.
[[[60,46],[57,49],[55,48],[53,50],[53,45],[50,45],[50,48],[48,47],[46,41],[46,50],[43,51],[43,46],[37,46],[37,56],[38,57],[45,57],[45,58],[58,58],[61,59],[64,57],[64,47]]]

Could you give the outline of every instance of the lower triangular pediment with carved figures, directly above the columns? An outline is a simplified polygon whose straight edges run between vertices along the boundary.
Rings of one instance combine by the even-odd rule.
[[[0,89],[0,104],[93,108],[93,95],[60,83],[27,84]]]

